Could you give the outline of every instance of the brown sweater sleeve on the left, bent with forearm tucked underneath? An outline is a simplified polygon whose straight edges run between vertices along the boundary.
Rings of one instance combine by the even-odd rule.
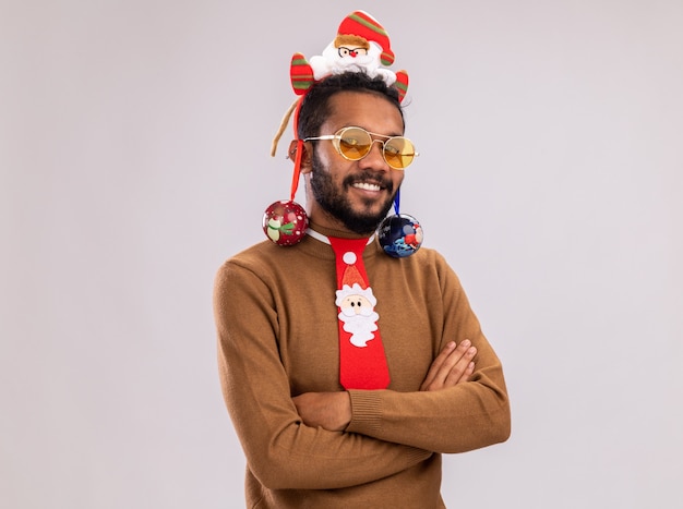
[[[214,286],[223,393],[251,472],[272,489],[355,486],[408,469],[432,453],[302,423],[278,351],[268,286],[228,262]]]

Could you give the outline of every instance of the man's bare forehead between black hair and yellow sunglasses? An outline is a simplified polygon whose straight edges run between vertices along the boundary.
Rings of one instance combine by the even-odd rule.
[[[349,125],[390,136],[404,133],[403,117],[396,105],[369,92],[340,92],[331,97],[329,117],[322,130],[336,132]]]

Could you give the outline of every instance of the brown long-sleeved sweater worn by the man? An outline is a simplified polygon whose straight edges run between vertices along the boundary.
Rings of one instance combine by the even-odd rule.
[[[422,247],[396,259],[375,242],[363,262],[392,381],[387,390],[349,391],[344,433],[307,426],[291,401],[344,390],[332,247],[310,237],[291,247],[264,241],[218,270],[218,363],[247,457],[248,507],[444,507],[441,453],[510,435],[501,363],[443,257]],[[419,391],[442,347],[464,339],[478,349],[470,381]]]

